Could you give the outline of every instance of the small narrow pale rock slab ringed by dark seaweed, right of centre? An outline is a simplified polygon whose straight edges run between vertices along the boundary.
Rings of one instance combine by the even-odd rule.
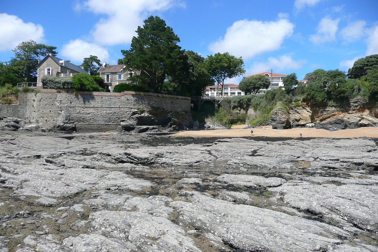
[[[253,175],[232,175],[225,174],[217,177],[218,180],[226,182],[228,184],[234,184],[239,186],[246,187],[277,187],[286,182],[282,178],[265,178],[262,176],[253,176]]]

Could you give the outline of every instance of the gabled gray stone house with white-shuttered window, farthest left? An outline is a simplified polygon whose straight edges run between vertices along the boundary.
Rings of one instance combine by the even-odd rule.
[[[59,59],[48,53],[37,65],[37,85],[42,86],[43,76],[72,77],[76,73],[87,73],[82,66]]]

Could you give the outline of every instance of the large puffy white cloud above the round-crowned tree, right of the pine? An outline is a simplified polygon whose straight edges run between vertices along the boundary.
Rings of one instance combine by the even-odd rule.
[[[283,40],[293,34],[294,24],[288,19],[276,22],[239,20],[227,28],[224,38],[209,45],[212,53],[229,52],[248,59],[256,54],[280,48]]]

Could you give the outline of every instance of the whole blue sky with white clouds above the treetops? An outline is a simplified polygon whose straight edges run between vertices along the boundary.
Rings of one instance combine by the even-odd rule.
[[[377,0],[0,3],[0,61],[8,61],[18,43],[33,39],[57,46],[58,57],[76,64],[90,54],[116,64],[149,15],[166,20],[183,49],[242,56],[247,74],[273,68],[302,79],[318,68],[347,70],[356,59],[378,54]]]

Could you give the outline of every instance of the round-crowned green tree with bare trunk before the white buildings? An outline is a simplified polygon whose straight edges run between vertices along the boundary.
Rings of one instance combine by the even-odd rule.
[[[221,95],[223,95],[223,85],[225,79],[238,77],[245,73],[244,61],[242,57],[237,58],[229,53],[216,53],[209,55],[206,59],[206,69],[211,77],[214,78],[217,85],[222,86]]]

